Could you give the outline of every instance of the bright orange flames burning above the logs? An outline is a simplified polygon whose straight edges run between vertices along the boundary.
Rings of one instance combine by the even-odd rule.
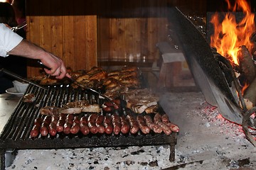
[[[250,6],[245,0],[236,0],[232,7],[230,2],[228,9],[231,11],[242,10],[245,17],[237,22],[233,13],[227,13],[222,23],[220,23],[218,13],[215,13],[210,20],[213,23],[214,34],[210,37],[210,46],[215,47],[217,52],[226,57],[230,62],[239,64],[238,52],[240,46],[245,45],[251,52],[253,44],[250,36],[255,32],[254,13],[251,13]]]

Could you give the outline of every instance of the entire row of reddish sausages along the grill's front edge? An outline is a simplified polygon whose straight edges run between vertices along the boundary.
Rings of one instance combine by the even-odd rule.
[[[151,115],[98,115],[98,113],[91,113],[90,115],[45,115],[43,118],[36,118],[31,129],[31,137],[37,137],[39,133],[42,136],[55,136],[57,132],[64,134],[78,134],[88,135],[89,133],[105,133],[107,135],[114,134],[136,134],[139,130],[148,134],[151,130],[155,133],[164,132],[170,135],[171,132],[178,132],[179,128],[174,123],[171,123],[168,115],[154,114]]]

